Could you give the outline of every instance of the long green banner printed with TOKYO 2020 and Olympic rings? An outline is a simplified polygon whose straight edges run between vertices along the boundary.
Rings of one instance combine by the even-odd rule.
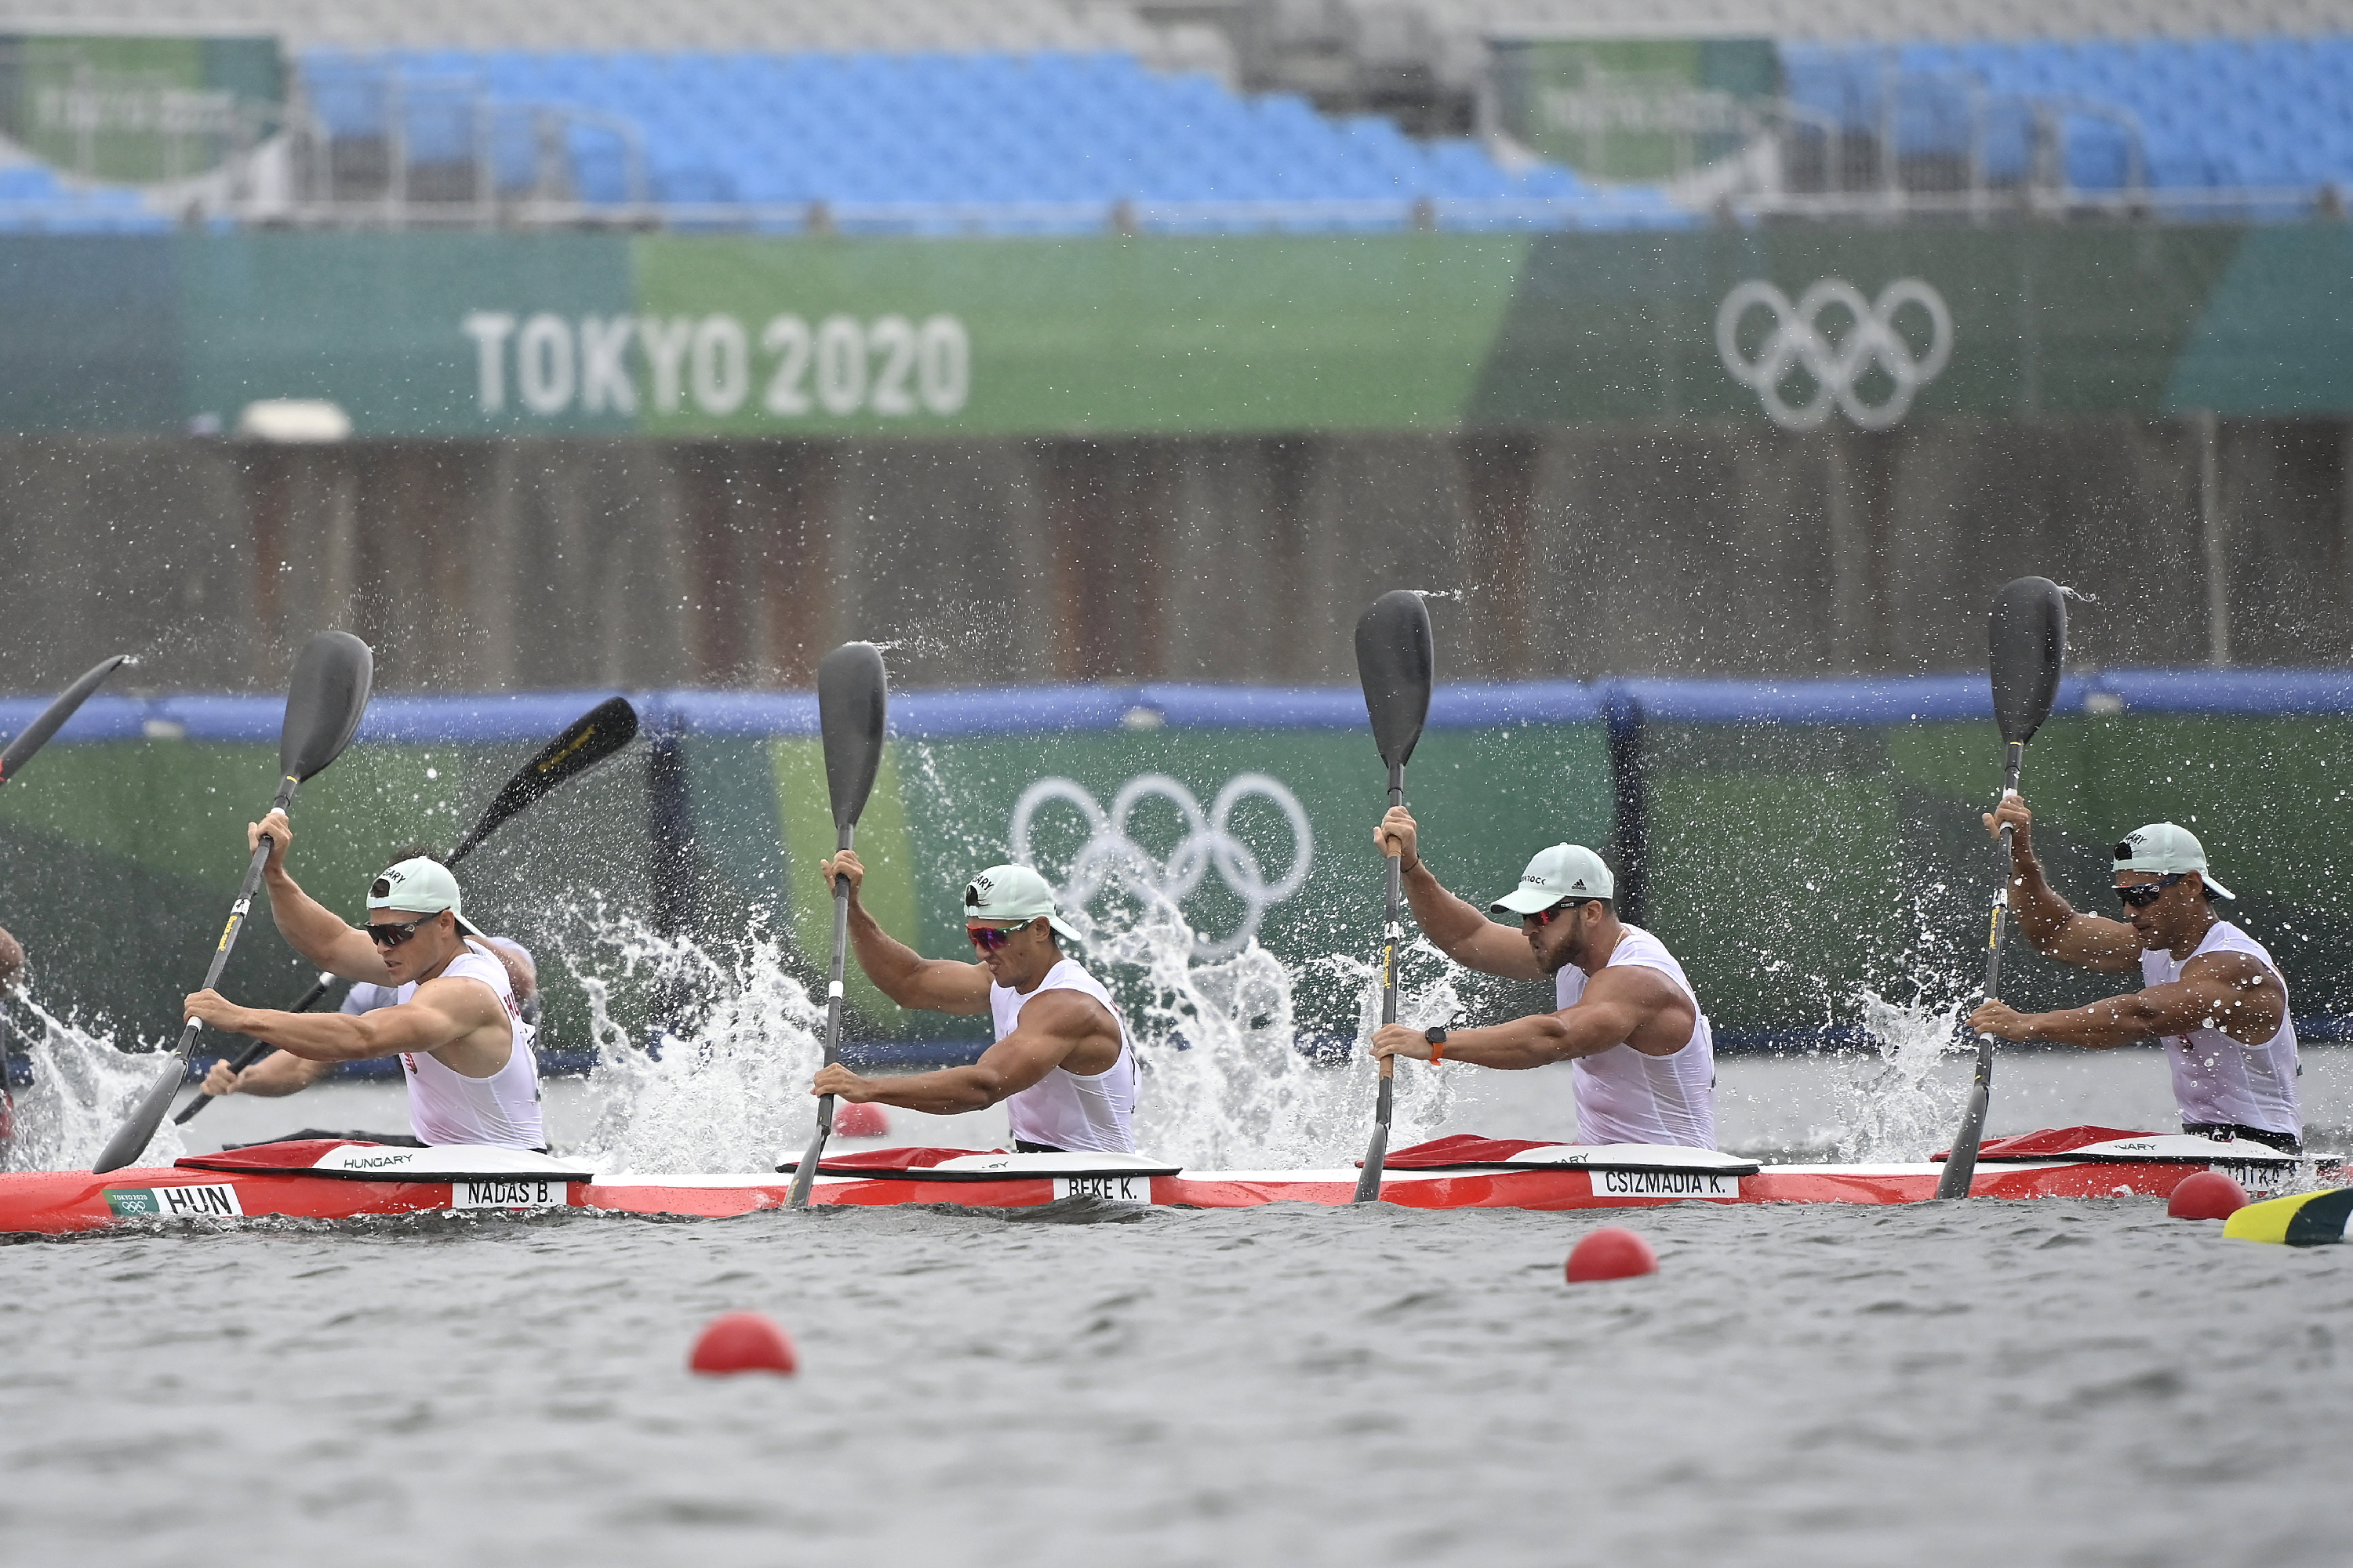
[[[16,430],[1235,435],[2353,411],[2353,228],[0,240]]]

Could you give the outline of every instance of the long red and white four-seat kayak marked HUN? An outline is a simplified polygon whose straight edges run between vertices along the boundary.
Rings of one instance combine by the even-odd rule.
[[[1988,1199],[2167,1197],[2198,1171],[2221,1171],[2249,1194],[2308,1187],[2311,1159],[2259,1143],[2186,1133],[2057,1128],[1988,1140],[1969,1182]],[[1398,1150],[1381,1201],[1405,1208],[1647,1208],[1654,1204],[1918,1204],[1939,1166],[1765,1166],[1715,1150],[1440,1138]],[[828,1157],[814,1204],[960,1204],[1038,1208],[1064,1199],[1179,1208],[1346,1204],[1355,1168],[1188,1171],[1141,1154],[1002,1154],[871,1150]],[[71,1234],[158,1220],[285,1215],[355,1220],[440,1211],[593,1208],[729,1218],[781,1208],[781,1173],[626,1175],[527,1150],[372,1143],[271,1143],[191,1154],[167,1168],[33,1171],[0,1175],[0,1232]]]

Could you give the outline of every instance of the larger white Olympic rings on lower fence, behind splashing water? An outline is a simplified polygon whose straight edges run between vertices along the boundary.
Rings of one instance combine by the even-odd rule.
[[[1292,863],[1273,882],[1266,879],[1266,867],[1259,865],[1249,844],[1242,844],[1231,830],[1233,809],[1252,797],[1273,802],[1289,820]],[[1127,818],[1146,799],[1169,802],[1184,818],[1186,837],[1169,849],[1167,860],[1153,858],[1148,849],[1127,837]],[[1224,959],[1247,947],[1249,938],[1259,933],[1268,905],[1278,905],[1306,886],[1308,863],[1315,858],[1315,830],[1308,825],[1308,813],[1280,778],[1238,773],[1202,811],[1179,780],[1167,773],[1141,773],[1120,785],[1120,792],[1111,797],[1111,811],[1104,811],[1101,802],[1071,778],[1033,783],[1014,802],[1014,820],[1007,832],[1012,858],[1019,865],[1038,865],[1031,856],[1031,823],[1038,811],[1054,802],[1075,806],[1087,823],[1087,842],[1071,858],[1061,886],[1054,889],[1064,910],[1085,910],[1106,889],[1118,889],[1144,903],[1181,905],[1217,870],[1219,879],[1242,900],[1242,924],[1217,940],[1195,936],[1195,959]]]

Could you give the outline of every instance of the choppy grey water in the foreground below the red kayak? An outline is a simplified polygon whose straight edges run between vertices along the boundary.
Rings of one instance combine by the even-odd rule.
[[[2153,1204],[0,1248],[9,1563],[2341,1563],[2353,1253]],[[791,1380],[701,1380],[760,1309]]]

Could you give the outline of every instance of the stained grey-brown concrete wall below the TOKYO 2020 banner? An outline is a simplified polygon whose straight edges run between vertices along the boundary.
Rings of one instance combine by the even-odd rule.
[[[798,686],[845,637],[894,642],[908,686],[1348,682],[1355,614],[1398,585],[1454,595],[1433,604],[1445,677],[1958,670],[2024,571],[2097,595],[2080,661],[2344,663],[2348,451],[2341,421],[2127,418],[9,437],[0,689],[118,649],[146,661],[134,684],[273,689],[320,625],[367,637],[384,689]]]

